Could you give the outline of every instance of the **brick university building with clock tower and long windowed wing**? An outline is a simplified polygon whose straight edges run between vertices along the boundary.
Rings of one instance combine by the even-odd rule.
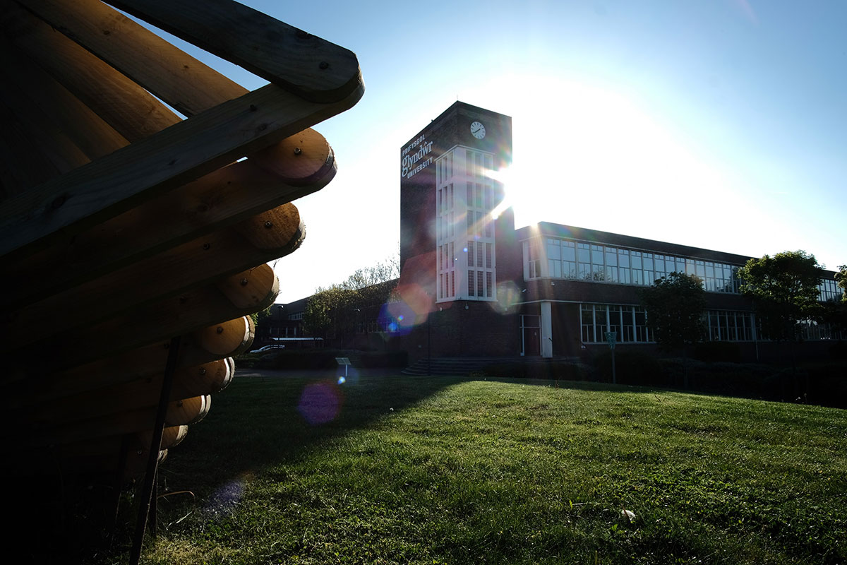
[[[736,271],[749,257],[629,235],[541,223],[515,229],[490,171],[512,160],[512,120],[456,102],[401,147],[400,296],[418,324],[401,335],[410,357],[559,357],[606,347],[655,347],[639,289],[695,274],[712,341],[748,359],[771,357]],[[825,272],[821,299],[841,296]],[[421,305],[425,304],[425,307]],[[832,343],[808,324],[807,349]]]

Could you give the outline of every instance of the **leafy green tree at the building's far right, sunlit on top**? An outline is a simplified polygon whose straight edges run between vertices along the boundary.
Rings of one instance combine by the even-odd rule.
[[[821,313],[822,274],[814,255],[786,251],[750,259],[738,275],[741,294],[753,301],[762,332],[772,340],[794,343],[800,339],[800,321]]]

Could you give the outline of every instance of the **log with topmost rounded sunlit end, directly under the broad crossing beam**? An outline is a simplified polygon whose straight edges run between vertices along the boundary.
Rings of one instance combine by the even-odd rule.
[[[272,172],[266,172],[271,169]],[[303,130],[77,235],[64,245],[7,262],[0,306],[23,307],[167,247],[316,191],[335,175],[332,149]]]

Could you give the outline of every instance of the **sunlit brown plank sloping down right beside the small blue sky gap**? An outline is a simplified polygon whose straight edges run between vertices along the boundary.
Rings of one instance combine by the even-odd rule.
[[[247,92],[99,0],[26,0],[25,6],[185,116]]]

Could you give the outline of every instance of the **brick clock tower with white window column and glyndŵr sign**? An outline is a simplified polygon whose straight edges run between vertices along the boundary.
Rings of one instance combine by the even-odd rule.
[[[401,280],[414,265],[414,283],[442,307],[496,302],[512,277],[498,256],[511,246],[498,241],[513,235],[514,215],[498,208],[497,175],[512,163],[512,119],[456,102],[401,147],[400,161]]]

